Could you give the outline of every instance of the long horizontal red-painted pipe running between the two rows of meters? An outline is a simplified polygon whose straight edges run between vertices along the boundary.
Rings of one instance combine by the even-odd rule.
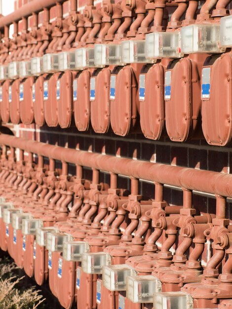
[[[232,175],[141,160],[118,158],[112,155],[89,153],[36,141],[0,135],[0,144],[23,149],[55,160],[66,161],[97,170],[153,181],[188,190],[232,197]]]

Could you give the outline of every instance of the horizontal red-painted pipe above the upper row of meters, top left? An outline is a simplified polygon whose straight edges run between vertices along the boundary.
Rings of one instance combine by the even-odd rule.
[[[63,3],[65,0],[33,0],[28,4],[15,10],[13,13],[3,16],[0,18],[0,29],[4,28],[6,25],[11,25],[13,22],[17,22],[22,19],[22,17],[31,16],[32,13],[39,13],[43,8],[50,8],[54,6],[57,2]]]

